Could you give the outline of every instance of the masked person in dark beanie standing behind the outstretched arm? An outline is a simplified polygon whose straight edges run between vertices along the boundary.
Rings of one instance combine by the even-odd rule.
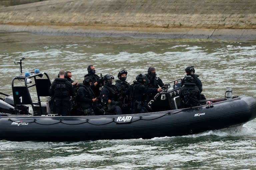
[[[145,75],[146,75],[146,82],[145,82],[146,87],[159,88],[159,87],[164,86],[163,81],[158,76],[156,76],[155,67],[149,67],[148,73]],[[155,92],[148,92],[147,93],[147,102],[149,102],[150,100],[154,100],[154,97],[156,94],[157,93],[155,93]]]

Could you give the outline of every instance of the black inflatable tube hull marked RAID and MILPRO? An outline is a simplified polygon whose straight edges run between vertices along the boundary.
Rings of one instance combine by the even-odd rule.
[[[109,116],[2,116],[0,140],[81,141],[177,136],[243,125],[256,99],[241,96],[212,106]]]

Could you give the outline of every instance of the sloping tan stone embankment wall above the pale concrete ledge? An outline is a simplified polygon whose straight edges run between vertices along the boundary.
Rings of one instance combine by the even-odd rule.
[[[1,7],[0,24],[255,29],[255,0],[49,0]]]

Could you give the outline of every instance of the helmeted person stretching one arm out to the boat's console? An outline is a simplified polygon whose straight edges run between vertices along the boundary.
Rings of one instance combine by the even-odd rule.
[[[145,86],[146,75],[138,74],[136,81],[133,81],[131,87],[132,93],[132,113],[148,113],[147,105],[145,103],[146,93],[157,93],[162,91],[161,88],[149,88]]]

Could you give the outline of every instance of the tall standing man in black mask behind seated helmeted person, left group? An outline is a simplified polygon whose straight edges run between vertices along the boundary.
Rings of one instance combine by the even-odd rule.
[[[99,77],[98,75],[95,74],[96,70],[95,70],[95,67],[93,65],[89,65],[87,67],[87,71],[88,71],[88,74],[86,74],[84,76],[84,78],[90,77],[93,80],[91,88],[92,88],[95,96],[100,97],[100,91],[101,91],[101,88],[102,88],[102,84],[101,84],[102,79],[101,79],[101,77]]]

